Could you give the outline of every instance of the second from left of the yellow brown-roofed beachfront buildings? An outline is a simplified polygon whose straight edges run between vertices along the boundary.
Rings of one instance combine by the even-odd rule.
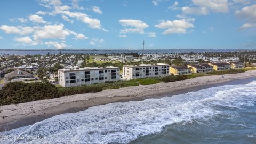
[[[205,73],[205,72],[213,71],[213,66],[207,63],[201,63],[197,65],[188,65],[188,68],[190,68],[193,73]]]

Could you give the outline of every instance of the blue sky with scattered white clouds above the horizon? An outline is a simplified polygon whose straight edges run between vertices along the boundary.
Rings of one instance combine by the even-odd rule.
[[[2,0],[0,49],[256,49],[255,0]]]

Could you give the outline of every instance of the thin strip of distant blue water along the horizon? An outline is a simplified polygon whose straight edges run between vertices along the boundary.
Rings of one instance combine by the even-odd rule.
[[[187,53],[187,52],[231,52],[238,49],[170,49],[170,50],[145,50],[145,53]],[[59,54],[61,53],[85,53],[85,54],[105,54],[105,53],[142,53],[142,50],[0,50],[0,54],[35,55],[35,54]]]

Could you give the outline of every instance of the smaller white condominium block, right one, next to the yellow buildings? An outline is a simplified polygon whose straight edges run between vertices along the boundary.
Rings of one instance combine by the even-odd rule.
[[[123,79],[164,76],[169,76],[169,65],[165,63],[123,66]]]

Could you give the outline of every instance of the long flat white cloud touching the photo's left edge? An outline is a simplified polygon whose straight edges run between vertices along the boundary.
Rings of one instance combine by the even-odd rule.
[[[7,26],[2,25],[0,29],[4,31],[6,34],[19,34],[19,35],[27,35],[33,33],[34,29],[32,27],[22,27],[22,26]]]

